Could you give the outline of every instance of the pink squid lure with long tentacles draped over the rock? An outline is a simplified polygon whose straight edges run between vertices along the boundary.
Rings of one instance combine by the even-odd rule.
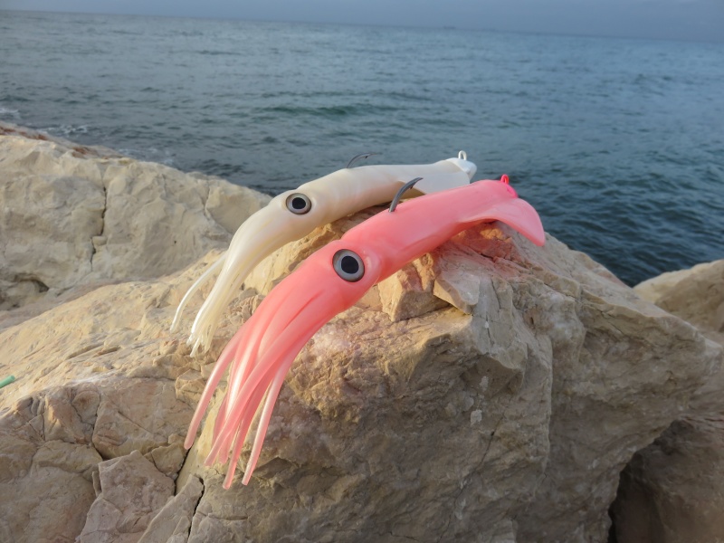
[[[478,181],[399,205],[376,214],[338,241],[312,254],[262,301],[219,357],[196,408],[186,436],[194,443],[201,419],[227,367],[228,388],[214,423],[212,450],[206,464],[226,462],[224,488],[229,488],[254,415],[261,408],[252,453],[243,476],[246,484],[262,449],[271,410],[284,377],[304,344],[332,317],[352,307],[376,282],[475,224],[501,221],[537,245],[545,243],[538,213],[500,181]],[[335,270],[342,250],[364,263],[361,278],[350,282]]]

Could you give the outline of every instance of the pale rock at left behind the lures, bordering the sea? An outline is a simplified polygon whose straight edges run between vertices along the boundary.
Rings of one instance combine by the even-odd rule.
[[[155,278],[224,248],[268,196],[0,125],[0,310]]]

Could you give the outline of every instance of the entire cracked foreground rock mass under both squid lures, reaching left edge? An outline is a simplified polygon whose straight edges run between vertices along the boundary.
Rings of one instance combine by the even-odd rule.
[[[112,179],[135,171],[115,164]],[[142,192],[161,191],[152,177]],[[202,465],[212,424],[185,456],[225,342],[301,258],[380,209],[271,255],[204,357],[184,335],[208,286],[167,330],[218,250],[145,281],[94,288],[91,270],[60,304],[7,311],[0,375],[18,379],[0,390],[0,494],[20,498],[0,501],[0,539],[605,541],[619,472],[690,409],[721,349],[585,254],[500,224],[459,234],[319,330],[248,487],[224,491],[222,466]],[[107,245],[118,251],[100,269],[112,254],[126,266],[130,249]]]

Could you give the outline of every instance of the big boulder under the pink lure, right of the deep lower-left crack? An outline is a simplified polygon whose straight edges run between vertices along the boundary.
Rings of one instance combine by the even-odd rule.
[[[247,286],[267,291],[366,216],[282,248]],[[205,428],[181,473],[205,480],[189,541],[338,540],[333,524],[348,541],[604,541],[619,472],[720,363],[556,240],[481,226],[412,266],[302,350],[249,488],[200,467]],[[440,305],[395,312],[424,296]]]

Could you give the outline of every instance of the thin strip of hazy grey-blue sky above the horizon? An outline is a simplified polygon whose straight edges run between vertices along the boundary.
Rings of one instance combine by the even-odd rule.
[[[724,0],[0,0],[0,8],[724,42]]]

